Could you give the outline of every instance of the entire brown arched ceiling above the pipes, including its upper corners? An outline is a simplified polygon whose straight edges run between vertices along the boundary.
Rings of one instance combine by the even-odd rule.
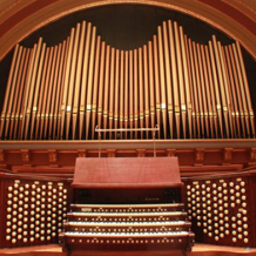
[[[0,60],[13,45],[49,22],[88,7],[122,3],[187,13],[237,39],[256,59],[256,0],[0,0]]]

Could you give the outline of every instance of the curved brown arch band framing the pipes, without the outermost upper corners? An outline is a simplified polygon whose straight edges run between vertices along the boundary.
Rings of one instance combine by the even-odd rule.
[[[175,10],[185,14],[188,14],[192,17],[198,18],[206,23],[209,23],[211,26],[220,29],[225,34],[229,35],[231,38],[234,38],[241,42],[244,48],[252,55],[254,59],[256,59],[256,30],[253,33],[253,27],[255,22],[251,20],[249,17],[244,15],[242,12],[239,12],[244,18],[247,18],[248,21],[252,21],[252,27],[245,27],[246,22],[242,25],[241,22],[231,18],[231,15],[225,14],[226,10],[221,12],[217,10],[217,7],[211,7],[204,2],[209,2],[205,0],[156,0],[156,1],[146,1],[146,0],[105,0],[105,1],[95,1],[95,0],[78,0],[72,1],[69,0],[48,0],[43,1],[45,5],[38,6],[37,2],[42,1],[33,1],[30,0],[31,5],[34,6],[34,10],[31,10],[31,14],[25,15],[22,14],[22,8],[17,10],[16,23],[11,18],[14,17],[17,13],[14,13],[13,16],[6,18],[7,21],[12,21],[15,24],[10,26],[10,29],[5,29],[4,33],[0,32],[0,60],[4,58],[4,56],[12,49],[12,47],[19,41],[21,41],[26,36],[33,33],[35,30],[45,26],[46,24],[58,20],[65,15],[74,13],[76,11],[81,11],[90,7],[97,7],[102,5],[110,5],[110,4],[145,4],[145,5],[153,5],[157,7],[163,7],[168,10]],[[219,2],[219,1],[214,1]],[[217,6],[218,3],[216,3]],[[23,6],[24,10],[26,8],[31,7],[28,3],[26,6]],[[233,8],[233,14],[235,12],[235,8]],[[27,10],[28,11],[28,10]],[[34,11],[34,12],[33,12]],[[23,15],[23,16],[22,16]],[[234,15],[233,15],[234,16]],[[0,17],[1,18],[1,17]],[[240,17],[241,18],[241,17]],[[14,18],[13,18],[14,19]],[[8,23],[2,22],[0,25],[6,25]],[[0,29],[1,31],[1,29]]]

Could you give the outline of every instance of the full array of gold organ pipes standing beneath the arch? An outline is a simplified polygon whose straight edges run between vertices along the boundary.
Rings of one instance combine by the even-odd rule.
[[[90,22],[55,46],[15,46],[0,133],[6,140],[97,139],[100,128],[159,125],[162,139],[254,138],[239,42],[194,42],[164,21],[151,41],[115,49]],[[150,139],[151,132],[103,134]]]

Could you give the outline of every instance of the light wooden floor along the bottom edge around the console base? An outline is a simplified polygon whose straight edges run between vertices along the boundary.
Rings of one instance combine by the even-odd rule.
[[[62,248],[57,245],[41,245],[41,246],[30,246],[14,249],[1,249],[0,256],[66,256],[66,252],[62,252]],[[72,254],[71,254],[72,255]],[[108,251],[89,251],[83,253],[83,255],[90,256],[176,256],[171,251],[138,251],[138,252],[108,252]],[[256,248],[244,248],[244,247],[231,247],[231,246],[217,246],[209,244],[195,244],[191,252],[187,252],[187,256],[232,256],[232,255],[255,255]]]

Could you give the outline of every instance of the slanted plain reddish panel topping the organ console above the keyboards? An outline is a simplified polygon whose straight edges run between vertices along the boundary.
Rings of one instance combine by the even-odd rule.
[[[177,157],[76,158],[76,188],[181,186]]]

